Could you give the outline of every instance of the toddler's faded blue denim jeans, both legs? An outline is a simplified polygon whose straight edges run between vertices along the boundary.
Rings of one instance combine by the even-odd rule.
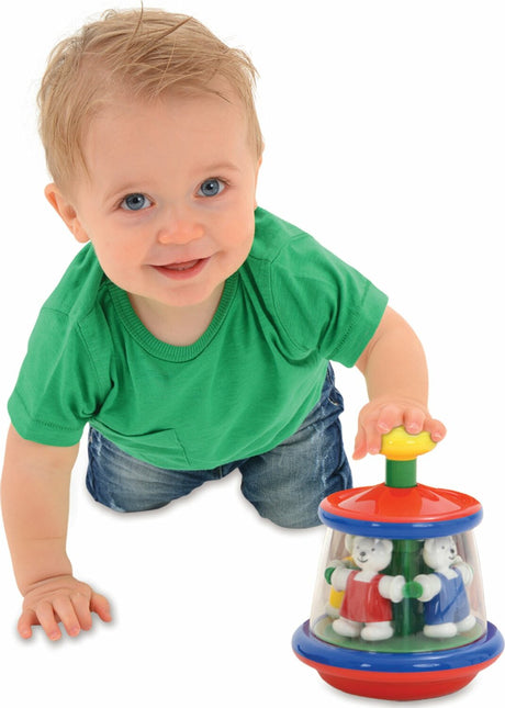
[[[351,486],[341,440],[343,411],[328,366],[321,400],[294,435],[263,454],[199,471],[165,470],[142,462],[91,428],[87,487],[97,502],[111,509],[145,512],[166,506],[238,468],[242,492],[262,517],[288,528],[317,526],[319,502]]]

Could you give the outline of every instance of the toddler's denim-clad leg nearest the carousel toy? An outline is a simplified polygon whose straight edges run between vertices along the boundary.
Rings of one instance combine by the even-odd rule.
[[[242,491],[261,516],[288,528],[317,526],[322,499],[351,486],[339,420],[343,411],[328,367],[319,403],[296,432],[240,464]]]

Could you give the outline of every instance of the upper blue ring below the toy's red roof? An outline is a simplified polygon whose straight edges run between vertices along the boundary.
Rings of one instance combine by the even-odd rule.
[[[354,536],[369,536],[389,539],[426,539],[441,536],[453,536],[470,531],[482,521],[483,512],[463,516],[446,521],[406,521],[391,524],[389,521],[370,521],[367,519],[347,518],[330,514],[319,507],[319,519],[332,529],[352,533]]]

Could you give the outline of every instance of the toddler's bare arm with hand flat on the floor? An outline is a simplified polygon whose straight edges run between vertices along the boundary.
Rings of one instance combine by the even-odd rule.
[[[59,639],[91,627],[91,611],[110,620],[109,603],[72,576],[66,552],[70,473],[79,446],[57,448],[24,440],[11,426],[2,475],[2,512],[21,594],[18,623],[27,639],[42,625]]]

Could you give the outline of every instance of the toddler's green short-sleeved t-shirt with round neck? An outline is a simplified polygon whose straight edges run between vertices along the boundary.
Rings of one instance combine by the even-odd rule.
[[[87,423],[173,470],[271,450],[317,403],[327,362],[356,363],[386,297],[311,236],[256,210],[252,249],[193,345],[156,339],[85,246],[44,304],[9,413],[18,432],[77,443]]]

